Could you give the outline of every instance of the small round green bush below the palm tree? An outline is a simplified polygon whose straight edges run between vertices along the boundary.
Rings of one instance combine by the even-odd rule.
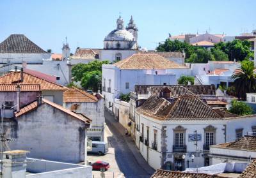
[[[230,107],[230,110],[228,110],[228,112],[231,112],[237,115],[253,114],[252,108],[250,106],[248,106],[243,101],[237,101],[237,100],[231,101],[231,107]]]

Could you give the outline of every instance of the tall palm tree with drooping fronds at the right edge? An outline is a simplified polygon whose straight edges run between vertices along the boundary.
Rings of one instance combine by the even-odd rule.
[[[256,70],[252,61],[243,61],[232,75],[236,94],[239,99],[246,100],[246,93],[256,91]]]

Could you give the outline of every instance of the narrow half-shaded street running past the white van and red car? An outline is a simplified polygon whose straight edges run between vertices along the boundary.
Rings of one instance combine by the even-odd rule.
[[[108,140],[109,152],[104,156],[88,155],[88,160],[107,161],[110,168],[105,177],[150,177],[154,169],[140,155],[132,138],[125,135],[124,127],[108,112],[105,112],[105,118],[105,139]],[[93,171],[93,175],[100,177],[100,172]]]

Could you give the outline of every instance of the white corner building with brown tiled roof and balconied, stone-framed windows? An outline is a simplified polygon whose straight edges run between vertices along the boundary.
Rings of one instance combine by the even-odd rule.
[[[209,165],[210,145],[235,140],[238,131],[245,135],[256,124],[255,115],[215,112],[197,96],[170,100],[170,93],[164,90],[162,97],[151,96],[135,112],[136,145],[155,169],[184,170],[187,160],[189,167]]]

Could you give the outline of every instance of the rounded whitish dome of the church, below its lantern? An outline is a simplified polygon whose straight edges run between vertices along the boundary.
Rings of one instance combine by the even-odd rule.
[[[115,29],[108,34],[105,41],[134,41],[134,36],[125,29]]]

